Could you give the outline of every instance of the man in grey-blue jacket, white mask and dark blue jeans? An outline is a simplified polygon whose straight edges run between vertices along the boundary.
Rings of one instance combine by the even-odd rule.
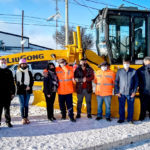
[[[125,120],[125,101],[128,103],[127,121],[133,123],[134,97],[138,86],[138,76],[136,70],[130,68],[130,59],[123,59],[123,68],[119,69],[115,79],[115,94],[119,99],[119,120]]]

